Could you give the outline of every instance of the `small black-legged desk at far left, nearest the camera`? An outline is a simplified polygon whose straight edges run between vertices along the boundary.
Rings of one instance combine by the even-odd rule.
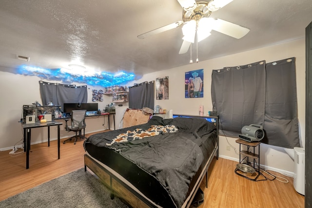
[[[26,169],[29,169],[29,151],[30,151],[30,137],[31,137],[31,129],[33,128],[41,128],[48,127],[48,147],[50,146],[50,126],[58,126],[58,159],[59,159],[59,126],[62,125],[62,122],[49,121],[46,123],[22,123],[22,127],[24,130],[24,152],[26,152]]]

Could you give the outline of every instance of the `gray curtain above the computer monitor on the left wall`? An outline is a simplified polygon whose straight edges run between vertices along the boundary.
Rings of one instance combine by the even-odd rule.
[[[42,105],[52,102],[60,105],[63,109],[64,103],[87,103],[87,86],[63,85],[39,81]]]

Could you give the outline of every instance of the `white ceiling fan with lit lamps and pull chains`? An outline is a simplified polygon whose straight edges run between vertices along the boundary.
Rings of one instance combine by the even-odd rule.
[[[188,52],[191,43],[194,43],[195,41],[195,36],[196,42],[198,43],[211,35],[211,30],[215,30],[219,33],[223,33],[237,39],[245,36],[250,31],[250,29],[232,22],[210,17],[212,12],[219,10],[233,0],[210,0],[208,2],[195,2],[195,0],[177,1],[183,7],[183,21],[176,21],[169,25],[143,33],[138,35],[137,38],[144,39],[151,35],[156,35],[158,33],[182,26],[183,43],[179,54],[183,54]]]

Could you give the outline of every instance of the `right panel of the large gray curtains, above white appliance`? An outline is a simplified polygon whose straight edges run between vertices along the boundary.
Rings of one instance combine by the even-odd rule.
[[[263,143],[285,148],[300,147],[295,58],[266,65],[267,90]]]

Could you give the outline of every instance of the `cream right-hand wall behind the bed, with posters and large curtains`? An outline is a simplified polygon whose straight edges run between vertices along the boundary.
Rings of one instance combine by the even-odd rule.
[[[214,58],[198,63],[188,64],[182,67],[158,71],[144,75],[135,83],[152,81],[158,77],[169,76],[169,100],[156,100],[155,105],[165,109],[173,109],[174,114],[199,115],[199,105],[204,105],[205,114],[212,110],[211,102],[211,74],[213,69],[246,65],[257,61],[265,60],[266,63],[295,57],[297,99],[298,99],[298,120],[300,143],[305,145],[305,39],[298,39],[274,46],[264,47],[248,52],[241,52],[233,55]],[[199,54],[200,60],[200,54]],[[187,63],[188,60],[185,60]],[[204,97],[189,99],[184,98],[184,72],[196,69],[204,69]],[[131,86],[130,83],[128,86]],[[237,138],[220,137],[220,156],[238,161],[239,156],[234,149],[227,150],[227,146],[233,145],[239,152],[239,145],[235,142]],[[280,147],[267,144],[260,145],[260,164],[278,172],[293,174],[293,161]],[[234,170],[233,170],[234,171]]]

